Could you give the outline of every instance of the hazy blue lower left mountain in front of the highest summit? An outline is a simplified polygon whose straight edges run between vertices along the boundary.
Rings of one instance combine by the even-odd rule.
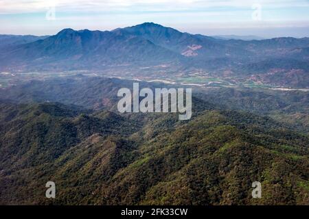
[[[4,53],[2,66],[30,68],[100,68],[105,65],[175,60],[177,54],[149,40],[111,31],[63,29],[55,36],[20,44]]]

